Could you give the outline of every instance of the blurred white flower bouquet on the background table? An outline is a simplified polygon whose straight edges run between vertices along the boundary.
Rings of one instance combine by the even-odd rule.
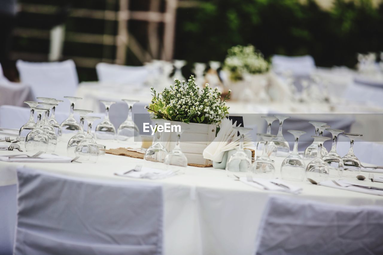
[[[270,63],[250,44],[231,47],[224,61],[224,69],[229,71],[231,80],[242,80],[246,73],[263,74],[269,68]]]

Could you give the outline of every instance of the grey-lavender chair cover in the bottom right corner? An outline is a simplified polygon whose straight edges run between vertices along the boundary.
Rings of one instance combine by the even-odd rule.
[[[271,197],[256,254],[383,254],[383,208]]]

